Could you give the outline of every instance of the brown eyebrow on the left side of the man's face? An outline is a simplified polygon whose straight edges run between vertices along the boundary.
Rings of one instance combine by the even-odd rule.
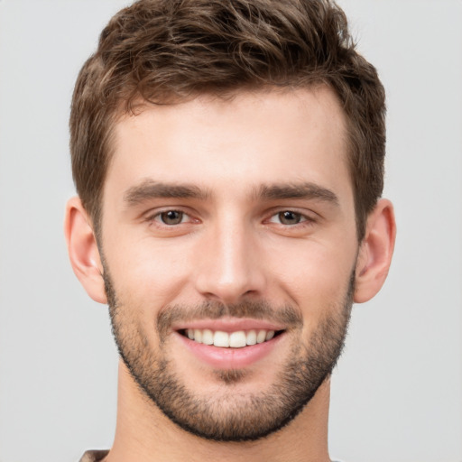
[[[189,184],[162,183],[144,180],[141,184],[125,191],[124,200],[130,205],[149,199],[207,199],[207,191]]]

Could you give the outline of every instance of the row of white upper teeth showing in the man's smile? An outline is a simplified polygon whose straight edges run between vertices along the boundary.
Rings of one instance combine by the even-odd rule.
[[[271,340],[274,337],[274,330],[236,330],[236,332],[228,333],[222,330],[213,332],[208,328],[188,328],[186,329],[186,336],[190,340],[204,345],[214,345],[215,347],[222,348],[242,348],[247,345],[255,345]]]

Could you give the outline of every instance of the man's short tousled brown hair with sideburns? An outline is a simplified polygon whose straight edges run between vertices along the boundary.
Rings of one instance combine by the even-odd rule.
[[[97,231],[116,117],[153,104],[241,88],[324,83],[347,115],[359,239],[383,190],[384,91],[330,0],[139,0],[110,20],[77,79],[70,152]]]

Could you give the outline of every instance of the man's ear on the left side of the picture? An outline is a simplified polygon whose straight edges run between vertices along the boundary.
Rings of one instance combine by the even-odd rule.
[[[69,199],[64,220],[64,235],[70,264],[88,295],[99,303],[107,303],[103,281],[103,265],[91,220],[79,198]]]

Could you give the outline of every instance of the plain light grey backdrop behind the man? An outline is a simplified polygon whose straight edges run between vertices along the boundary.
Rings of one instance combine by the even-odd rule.
[[[343,0],[387,89],[398,239],[356,305],[329,446],[347,462],[462,460],[462,2]],[[0,0],[0,461],[109,448],[117,357],[62,236],[69,101],[121,0]],[[290,461],[288,461],[290,462]]]

